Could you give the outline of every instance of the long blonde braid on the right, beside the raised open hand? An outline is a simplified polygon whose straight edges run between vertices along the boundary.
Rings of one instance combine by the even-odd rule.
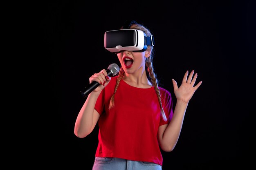
[[[148,67],[148,74],[149,74],[149,77],[150,77],[150,82],[153,84],[153,86],[155,88],[155,91],[157,93],[158,102],[159,102],[160,108],[161,108],[161,115],[162,115],[164,121],[167,121],[167,118],[166,118],[166,115],[164,113],[164,109],[163,109],[163,106],[162,106],[161,93],[159,91],[158,84],[157,84],[158,80],[155,76],[154,68],[152,66],[151,55],[146,59],[146,66]]]

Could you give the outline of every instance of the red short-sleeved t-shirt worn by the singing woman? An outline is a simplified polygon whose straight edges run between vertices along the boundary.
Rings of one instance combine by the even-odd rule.
[[[111,78],[95,105],[101,115],[95,156],[147,161],[162,166],[157,130],[173,117],[171,94],[159,87],[162,106],[168,118],[168,121],[164,121],[154,87],[137,88],[121,80],[115,94],[115,106],[109,110],[117,76]]]

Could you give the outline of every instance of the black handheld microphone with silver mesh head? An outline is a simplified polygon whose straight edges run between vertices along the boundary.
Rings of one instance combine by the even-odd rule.
[[[117,75],[117,73],[119,72],[120,68],[117,64],[113,63],[113,64],[110,64],[108,66],[108,69],[106,70],[107,71],[107,74],[108,76],[112,77],[112,76],[115,76]],[[97,88],[100,84],[96,81],[92,81],[92,83],[89,84],[89,86],[87,88],[85,88],[85,91],[83,92],[80,92],[81,95],[83,97],[86,97],[88,96],[92,91],[94,91],[95,88]]]

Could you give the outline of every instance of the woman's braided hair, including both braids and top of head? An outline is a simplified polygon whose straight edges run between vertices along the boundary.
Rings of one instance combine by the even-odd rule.
[[[130,29],[138,29],[138,30],[141,30],[144,33],[146,33],[147,36],[151,35],[150,31],[145,26],[143,26],[141,24],[133,24],[132,26],[130,26]],[[155,88],[155,92],[157,94],[158,102],[159,102],[159,105],[160,105],[160,108],[161,108],[161,115],[162,115],[164,121],[167,121],[166,115],[164,113],[164,109],[162,107],[161,94],[160,94],[160,91],[159,91],[159,88],[158,88],[158,79],[157,79],[157,77],[154,73],[154,68],[153,68],[153,55],[154,55],[153,46],[148,45],[147,48],[151,51],[151,53],[150,53],[150,56],[148,58],[146,58],[146,64],[145,64],[146,74],[147,74],[148,80],[153,84],[153,86]],[[115,104],[114,104],[115,93],[117,92],[119,82],[124,77],[124,73],[125,72],[124,72],[123,68],[121,67],[120,71],[119,71],[119,75],[117,77],[117,83],[116,83],[116,86],[115,86],[114,94],[112,95],[112,97],[110,99],[109,109],[111,109],[112,107],[115,106]]]

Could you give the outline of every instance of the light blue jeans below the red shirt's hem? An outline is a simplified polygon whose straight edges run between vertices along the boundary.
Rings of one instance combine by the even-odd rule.
[[[151,162],[95,157],[92,170],[162,170],[162,166]]]

